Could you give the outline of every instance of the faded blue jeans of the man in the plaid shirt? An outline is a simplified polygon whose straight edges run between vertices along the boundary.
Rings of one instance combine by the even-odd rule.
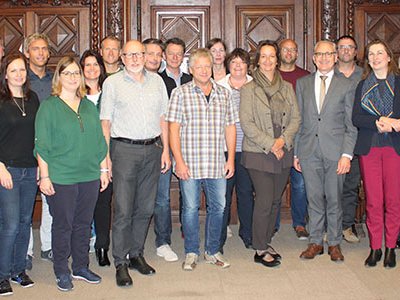
[[[199,209],[202,186],[207,201],[204,250],[206,253],[214,255],[219,251],[220,246],[222,218],[225,208],[225,178],[180,180],[185,253],[200,254]]]

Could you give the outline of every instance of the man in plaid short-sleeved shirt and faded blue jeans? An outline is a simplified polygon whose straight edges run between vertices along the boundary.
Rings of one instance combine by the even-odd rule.
[[[182,267],[187,271],[193,270],[200,254],[199,207],[203,187],[207,198],[204,257],[208,263],[227,268],[230,264],[219,252],[219,239],[226,179],[235,172],[235,122],[238,113],[229,91],[211,79],[212,56],[209,50],[193,51],[189,57],[189,69],[193,81],[172,92],[166,117],[175,159],[174,171],[181,179],[186,254]]]

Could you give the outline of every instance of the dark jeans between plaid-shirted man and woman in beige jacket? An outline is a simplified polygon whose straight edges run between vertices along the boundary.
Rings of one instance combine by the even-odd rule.
[[[227,156],[227,154],[225,153]],[[241,152],[235,154],[235,174],[229,178],[226,182],[226,206],[224,209],[224,219],[222,223],[221,232],[221,250],[224,247],[226,241],[226,227],[229,224],[231,217],[231,203],[233,188],[236,189],[237,198],[237,211],[239,216],[239,236],[243,240],[244,244],[251,245],[252,233],[251,227],[253,223],[253,206],[254,206],[254,195],[253,195],[253,184],[249,172],[240,163],[242,157]]]

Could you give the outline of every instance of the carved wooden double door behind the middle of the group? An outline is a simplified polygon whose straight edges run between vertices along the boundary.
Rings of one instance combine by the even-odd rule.
[[[204,47],[207,41],[214,37],[222,38],[228,46],[228,51],[242,47],[251,52],[260,40],[280,41],[293,38],[299,45],[298,63],[307,66],[306,48],[309,43],[313,43],[312,38],[308,38],[309,23],[313,17],[312,14],[309,17],[304,15],[308,2],[311,3],[308,0],[142,1],[137,16],[140,20],[139,34],[135,38],[153,37],[165,41],[168,38],[180,37],[187,45],[186,56],[192,49]],[[313,11],[312,5],[308,11]],[[131,14],[135,13],[132,11]],[[173,179],[171,203],[175,216],[179,209],[178,198],[178,183]],[[289,202],[285,202],[284,205],[288,206]],[[232,207],[232,221],[235,222],[236,205]],[[204,209],[203,201],[202,215]]]

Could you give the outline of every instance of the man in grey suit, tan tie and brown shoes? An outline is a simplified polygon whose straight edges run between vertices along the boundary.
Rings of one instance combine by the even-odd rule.
[[[303,173],[308,199],[310,243],[300,258],[323,254],[326,224],[328,254],[341,262],[341,197],[357,129],[351,120],[354,88],[334,72],[336,60],[336,45],[319,41],[313,55],[317,71],[297,81],[302,122],[295,139],[294,167]]]

